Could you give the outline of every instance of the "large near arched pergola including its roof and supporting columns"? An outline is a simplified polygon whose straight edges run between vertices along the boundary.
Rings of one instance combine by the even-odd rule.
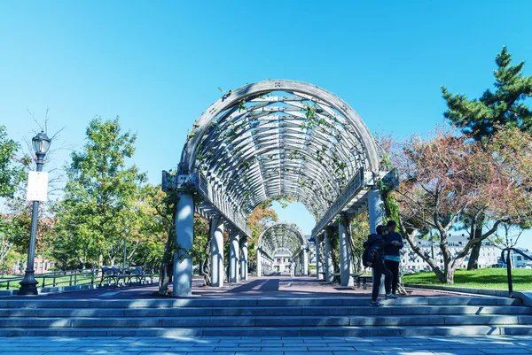
[[[176,238],[180,249],[175,254],[174,295],[192,292],[188,251],[192,249],[194,212],[210,220],[211,281],[220,287],[223,231],[231,235],[229,281],[239,282],[247,277],[251,231],[246,220],[255,206],[274,197],[299,201],[314,216],[312,236],[317,248],[325,240],[325,262],[317,253],[317,268],[325,269],[327,277],[332,266],[328,234],[338,228],[341,284],[351,284],[349,222],[368,208],[372,229],[382,219],[377,185],[388,172],[379,167],[379,161],[378,148],[364,122],[325,89],[301,81],[261,81],[229,90],[194,123],[177,174],[163,174],[163,189],[179,194]],[[278,241],[283,233],[269,240]],[[286,239],[287,243],[291,240]],[[258,244],[259,267],[271,262],[273,247],[296,251],[295,243],[269,243]],[[301,263],[308,265],[306,260]]]

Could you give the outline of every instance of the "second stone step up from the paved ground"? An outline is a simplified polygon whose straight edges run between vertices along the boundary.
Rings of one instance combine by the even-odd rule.
[[[0,328],[213,328],[531,325],[532,316],[150,317],[0,319]]]

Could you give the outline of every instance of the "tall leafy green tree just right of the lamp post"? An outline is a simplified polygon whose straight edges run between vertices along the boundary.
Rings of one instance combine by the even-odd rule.
[[[66,168],[65,197],[58,205],[59,233],[74,243],[80,263],[94,260],[112,265],[123,241],[137,226],[137,201],[145,174],[126,159],[135,152],[137,135],[122,134],[118,118],[90,121],[81,152],[72,153]],[[82,242],[82,243],[79,243]],[[86,258],[86,259],[83,259]]]

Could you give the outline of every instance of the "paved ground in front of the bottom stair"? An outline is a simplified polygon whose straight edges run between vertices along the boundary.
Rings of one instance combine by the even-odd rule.
[[[0,354],[24,355],[465,355],[530,354],[532,336],[468,337],[0,337]]]

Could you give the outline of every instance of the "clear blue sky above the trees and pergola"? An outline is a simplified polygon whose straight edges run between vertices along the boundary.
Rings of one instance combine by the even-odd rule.
[[[526,0],[1,2],[0,124],[31,137],[27,109],[50,108],[49,131],[66,126],[56,146],[79,149],[90,119],[120,115],[153,183],[218,87],[265,78],[328,89],[372,131],[425,134],[443,123],[440,86],[480,96],[503,45],[532,73],[531,13]],[[314,226],[301,206],[279,214]]]

